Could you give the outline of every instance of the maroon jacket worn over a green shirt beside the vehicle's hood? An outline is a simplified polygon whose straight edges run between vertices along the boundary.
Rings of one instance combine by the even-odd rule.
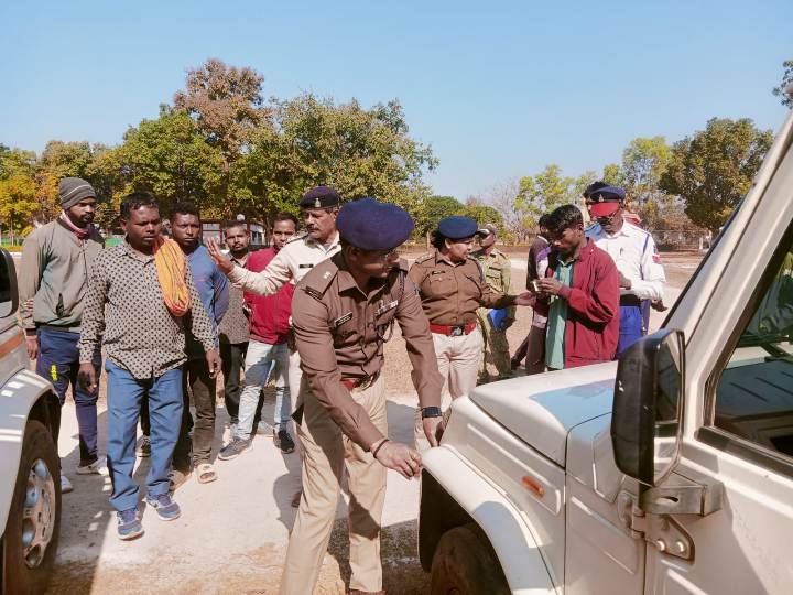
[[[551,252],[545,277],[555,274],[556,258]],[[560,295],[567,300],[565,368],[611,361],[619,342],[619,273],[608,252],[587,240],[573,264],[573,286]],[[539,301],[536,310],[547,316],[547,302]]]

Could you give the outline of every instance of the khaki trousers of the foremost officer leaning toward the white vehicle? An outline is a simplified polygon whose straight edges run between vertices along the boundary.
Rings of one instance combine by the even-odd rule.
[[[350,588],[382,589],[380,521],[385,500],[385,467],[341,433],[304,380],[304,404],[297,435],[303,444],[303,497],[295,519],[283,576],[282,595],[307,595],[316,585],[336,517],[344,469],[349,478]],[[388,435],[385,382],[377,380],[352,398]]]

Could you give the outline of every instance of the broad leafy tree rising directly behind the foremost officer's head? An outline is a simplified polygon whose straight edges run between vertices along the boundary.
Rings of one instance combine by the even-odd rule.
[[[398,101],[365,109],[306,94],[276,101],[273,125],[260,128],[237,164],[233,196],[242,212],[294,208],[296,197],[317,184],[346,198],[389,201],[413,215],[430,194],[422,176],[437,160],[409,136]]]

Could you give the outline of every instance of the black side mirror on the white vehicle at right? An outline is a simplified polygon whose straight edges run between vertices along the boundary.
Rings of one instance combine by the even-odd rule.
[[[619,358],[611,415],[615,461],[647,486],[658,486],[677,462],[684,375],[682,331],[648,335]]]

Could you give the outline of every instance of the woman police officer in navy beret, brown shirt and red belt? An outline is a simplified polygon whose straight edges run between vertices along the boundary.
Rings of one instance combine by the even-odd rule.
[[[419,288],[424,313],[430,320],[441,376],[448,382],[443,409],[452,399],[476,387],[482,357],[482,336],[477,325],[479,306],[501,309],[532,305],[530,292],[496,295],[490,291],[479,263],[470,258],[477,223],[469,217],[441,219],[435,231],[435,250],[419,257],[409,277]],[[421,413],[416,412],[415,440],[419,450],[428,447],[423,436]]]

